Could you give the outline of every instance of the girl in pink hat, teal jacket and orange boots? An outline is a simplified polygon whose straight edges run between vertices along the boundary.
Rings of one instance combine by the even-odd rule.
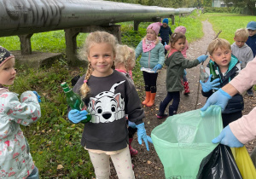
[[[137,45],[136,59],[142,54],[140,64],[142,66],[143,78],[145,82],[146,98],[143,105],[152,107],[156,94],[156,79],[158,71],[162,68],[165,62],[165,49],[159,38],[160,22],[150,24],[147,28],[147,35]]]

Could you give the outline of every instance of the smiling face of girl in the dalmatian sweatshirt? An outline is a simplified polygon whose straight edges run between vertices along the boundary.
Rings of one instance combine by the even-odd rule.
[[[89,49],[87,58],[93,68],[93,76],[107,77],[112,74],[113,69],[111,67],[113,66],[115,55],[109,43],[93,44]]]

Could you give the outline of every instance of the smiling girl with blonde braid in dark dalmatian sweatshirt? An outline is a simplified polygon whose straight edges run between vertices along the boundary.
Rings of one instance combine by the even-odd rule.
[[[119,178],[135,178],[125,114],[136,124],[139,143],[142,144],[143,139],[148,149],[144,112],[137,90],[125,75],[114,70],[116,45],[116,38],[108,32],[90,33],[80,53],[89,61],[88,69],[73,87],[92,115],[90,122],[84,124],[81,144],[89,151],[96,178],[109,177],[109,156]],[[86,113],[71,110],[68,118],[79,123],[86,118]]]

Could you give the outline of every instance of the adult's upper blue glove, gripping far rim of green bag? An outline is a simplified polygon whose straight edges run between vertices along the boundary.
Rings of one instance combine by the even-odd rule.
[[[221,111],[223,112],[231,98],[232,97],[228,93],[222,89],[219,89],[208,98],[205,106],[201,107],[201,111],[206,111],[207,107],[210,107],[211,105],[218,105],[221,107]]]

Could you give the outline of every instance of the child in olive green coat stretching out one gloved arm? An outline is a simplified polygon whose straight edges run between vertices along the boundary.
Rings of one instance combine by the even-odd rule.
[[[185,48],[186,37],[180,32],[172,33],[170,57],[166,59],[166,90],[167,95],[164,101],[160,102],[159,113],[157,118],[165,118],[165,110],[170,101],[172,105],[169,106],[169,116],[177,113],[177,108],[180,101],[180,91],[183,90],[183,72],[184,68],[191,68],[197,66],[202,61],[207,60],[207,55],[201,55],[195,61],[189,61],[184,58],[182,51]]]

